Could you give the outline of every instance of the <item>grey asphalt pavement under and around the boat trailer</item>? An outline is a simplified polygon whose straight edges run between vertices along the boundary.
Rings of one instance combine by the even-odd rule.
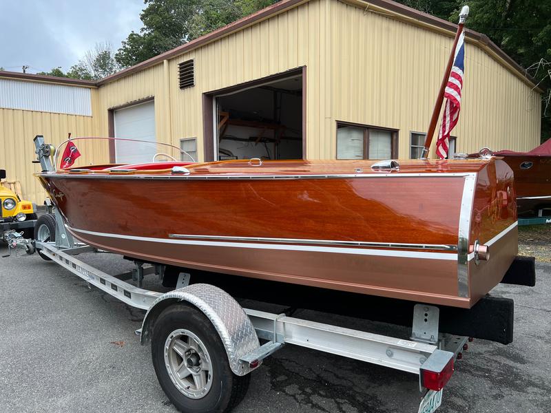
[[[82,259],[112,274],[132,268],[117,255]],[[438,411],[551,412],[551,264],[537,264],[536,287],[500,285],[492,294],[515,301],[514,343],[471,343]],[[145,312],[38,255],[0,258],[0,302],[0,412],[176,412],[149,346],[134,335]],[[408,336],[405,328],[350,317],[293,316],[301,314]],[[287,346],[253,372],[234,412],[417,412],[419,400],[414,374]]]

